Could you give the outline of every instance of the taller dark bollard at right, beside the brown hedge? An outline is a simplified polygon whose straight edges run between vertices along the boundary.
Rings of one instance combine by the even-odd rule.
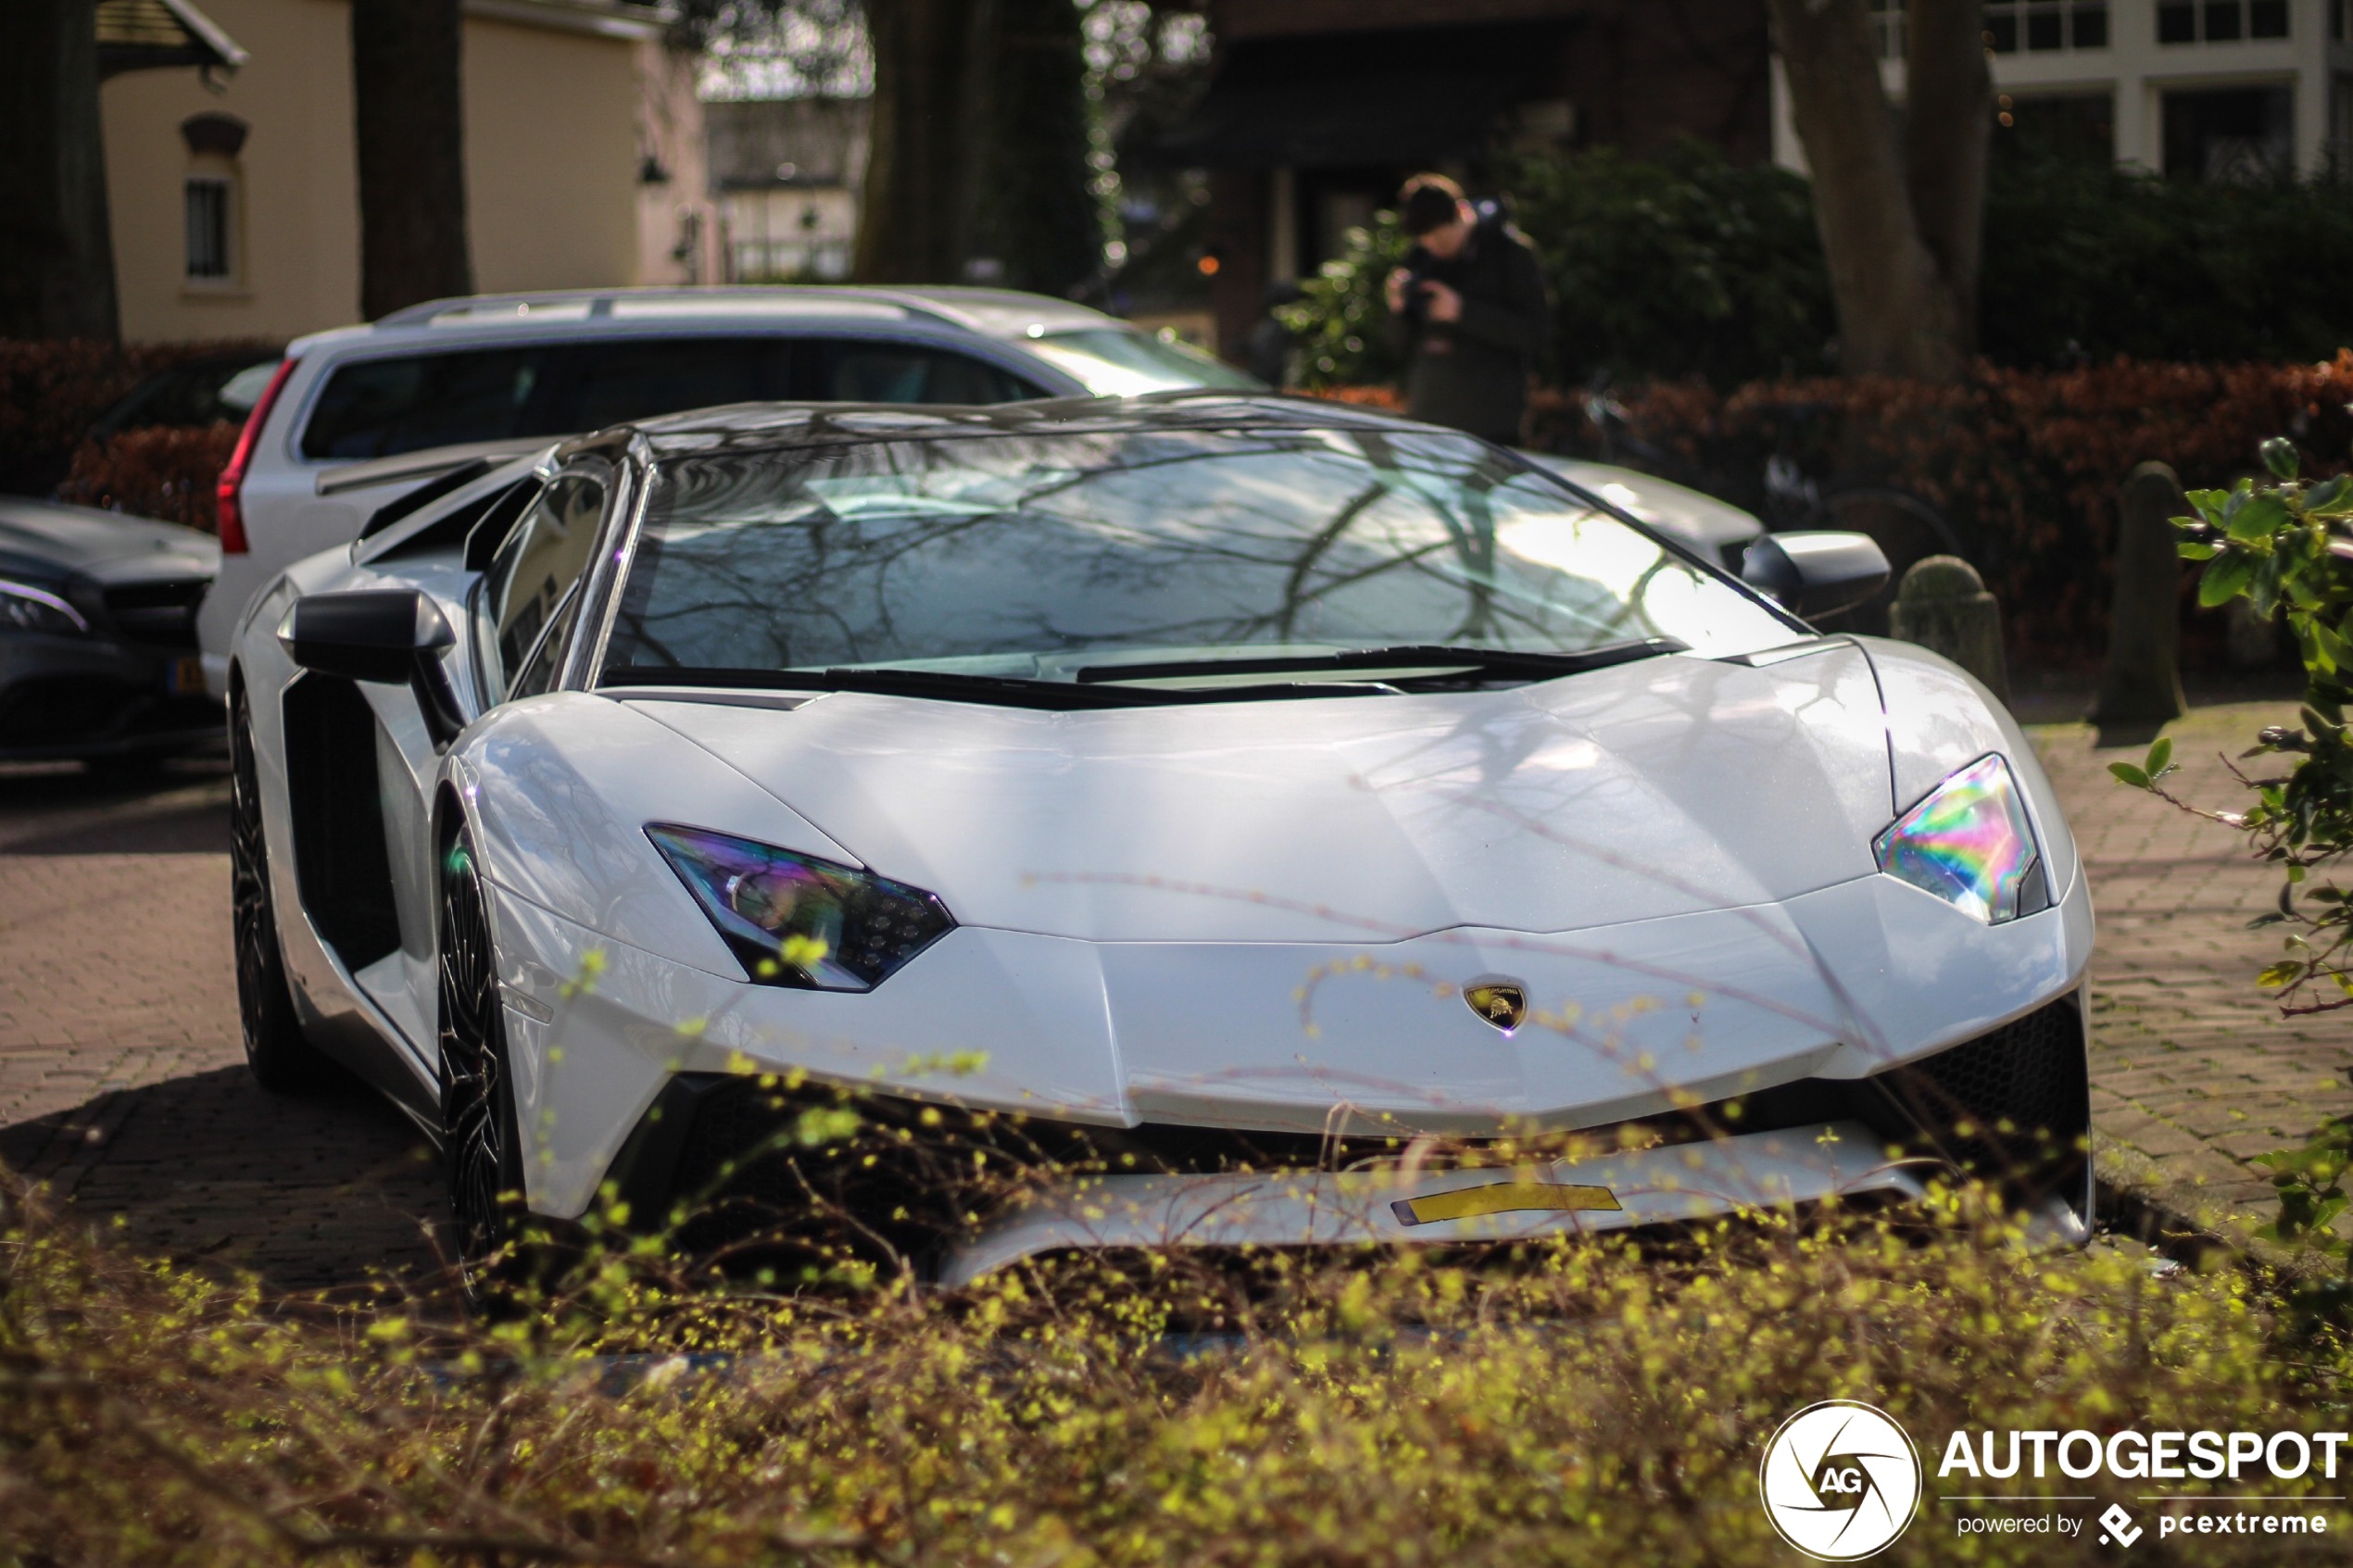
[[[2181,480],[2165,463],[2141,463],[2115,501],[2115,604],[2108,616],[2108,670],[2092,722],[2120,743],[2188,712],[2181,696],[2181,536],[2188,510]]]

